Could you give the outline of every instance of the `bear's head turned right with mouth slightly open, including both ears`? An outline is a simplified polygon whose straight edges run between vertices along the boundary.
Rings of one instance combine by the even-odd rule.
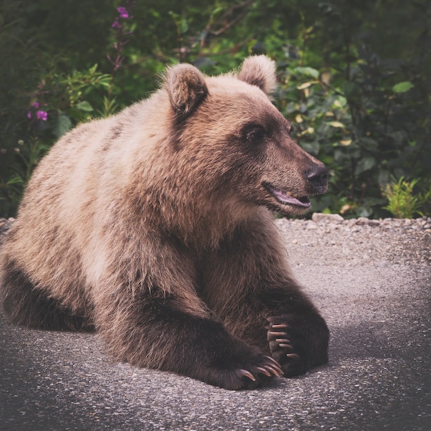
[[[298,215],[326,191],[326,167],[295,143],[271,103],[275,85],[266,56],[249,57],[237,74],[207,77],[186,64],[168,70],[172,151],[178,163],[187,160],[187,184],[200,196]]]

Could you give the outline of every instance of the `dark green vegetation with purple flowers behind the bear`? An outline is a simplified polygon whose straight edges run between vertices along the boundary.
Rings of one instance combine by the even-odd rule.
[[[0,0],[0,215],[76,123],[147,97],[166,65],[265,53],[275,105],[330,169],[315,211],[431,215],[428,0]]]

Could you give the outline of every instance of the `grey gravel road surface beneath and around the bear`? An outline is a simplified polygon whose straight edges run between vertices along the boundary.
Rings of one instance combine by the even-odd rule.
[[[233,392],[0,315],[0,430],[431,430],[431,220],[314,220],[276,223],[328,322],[328,366]]]

